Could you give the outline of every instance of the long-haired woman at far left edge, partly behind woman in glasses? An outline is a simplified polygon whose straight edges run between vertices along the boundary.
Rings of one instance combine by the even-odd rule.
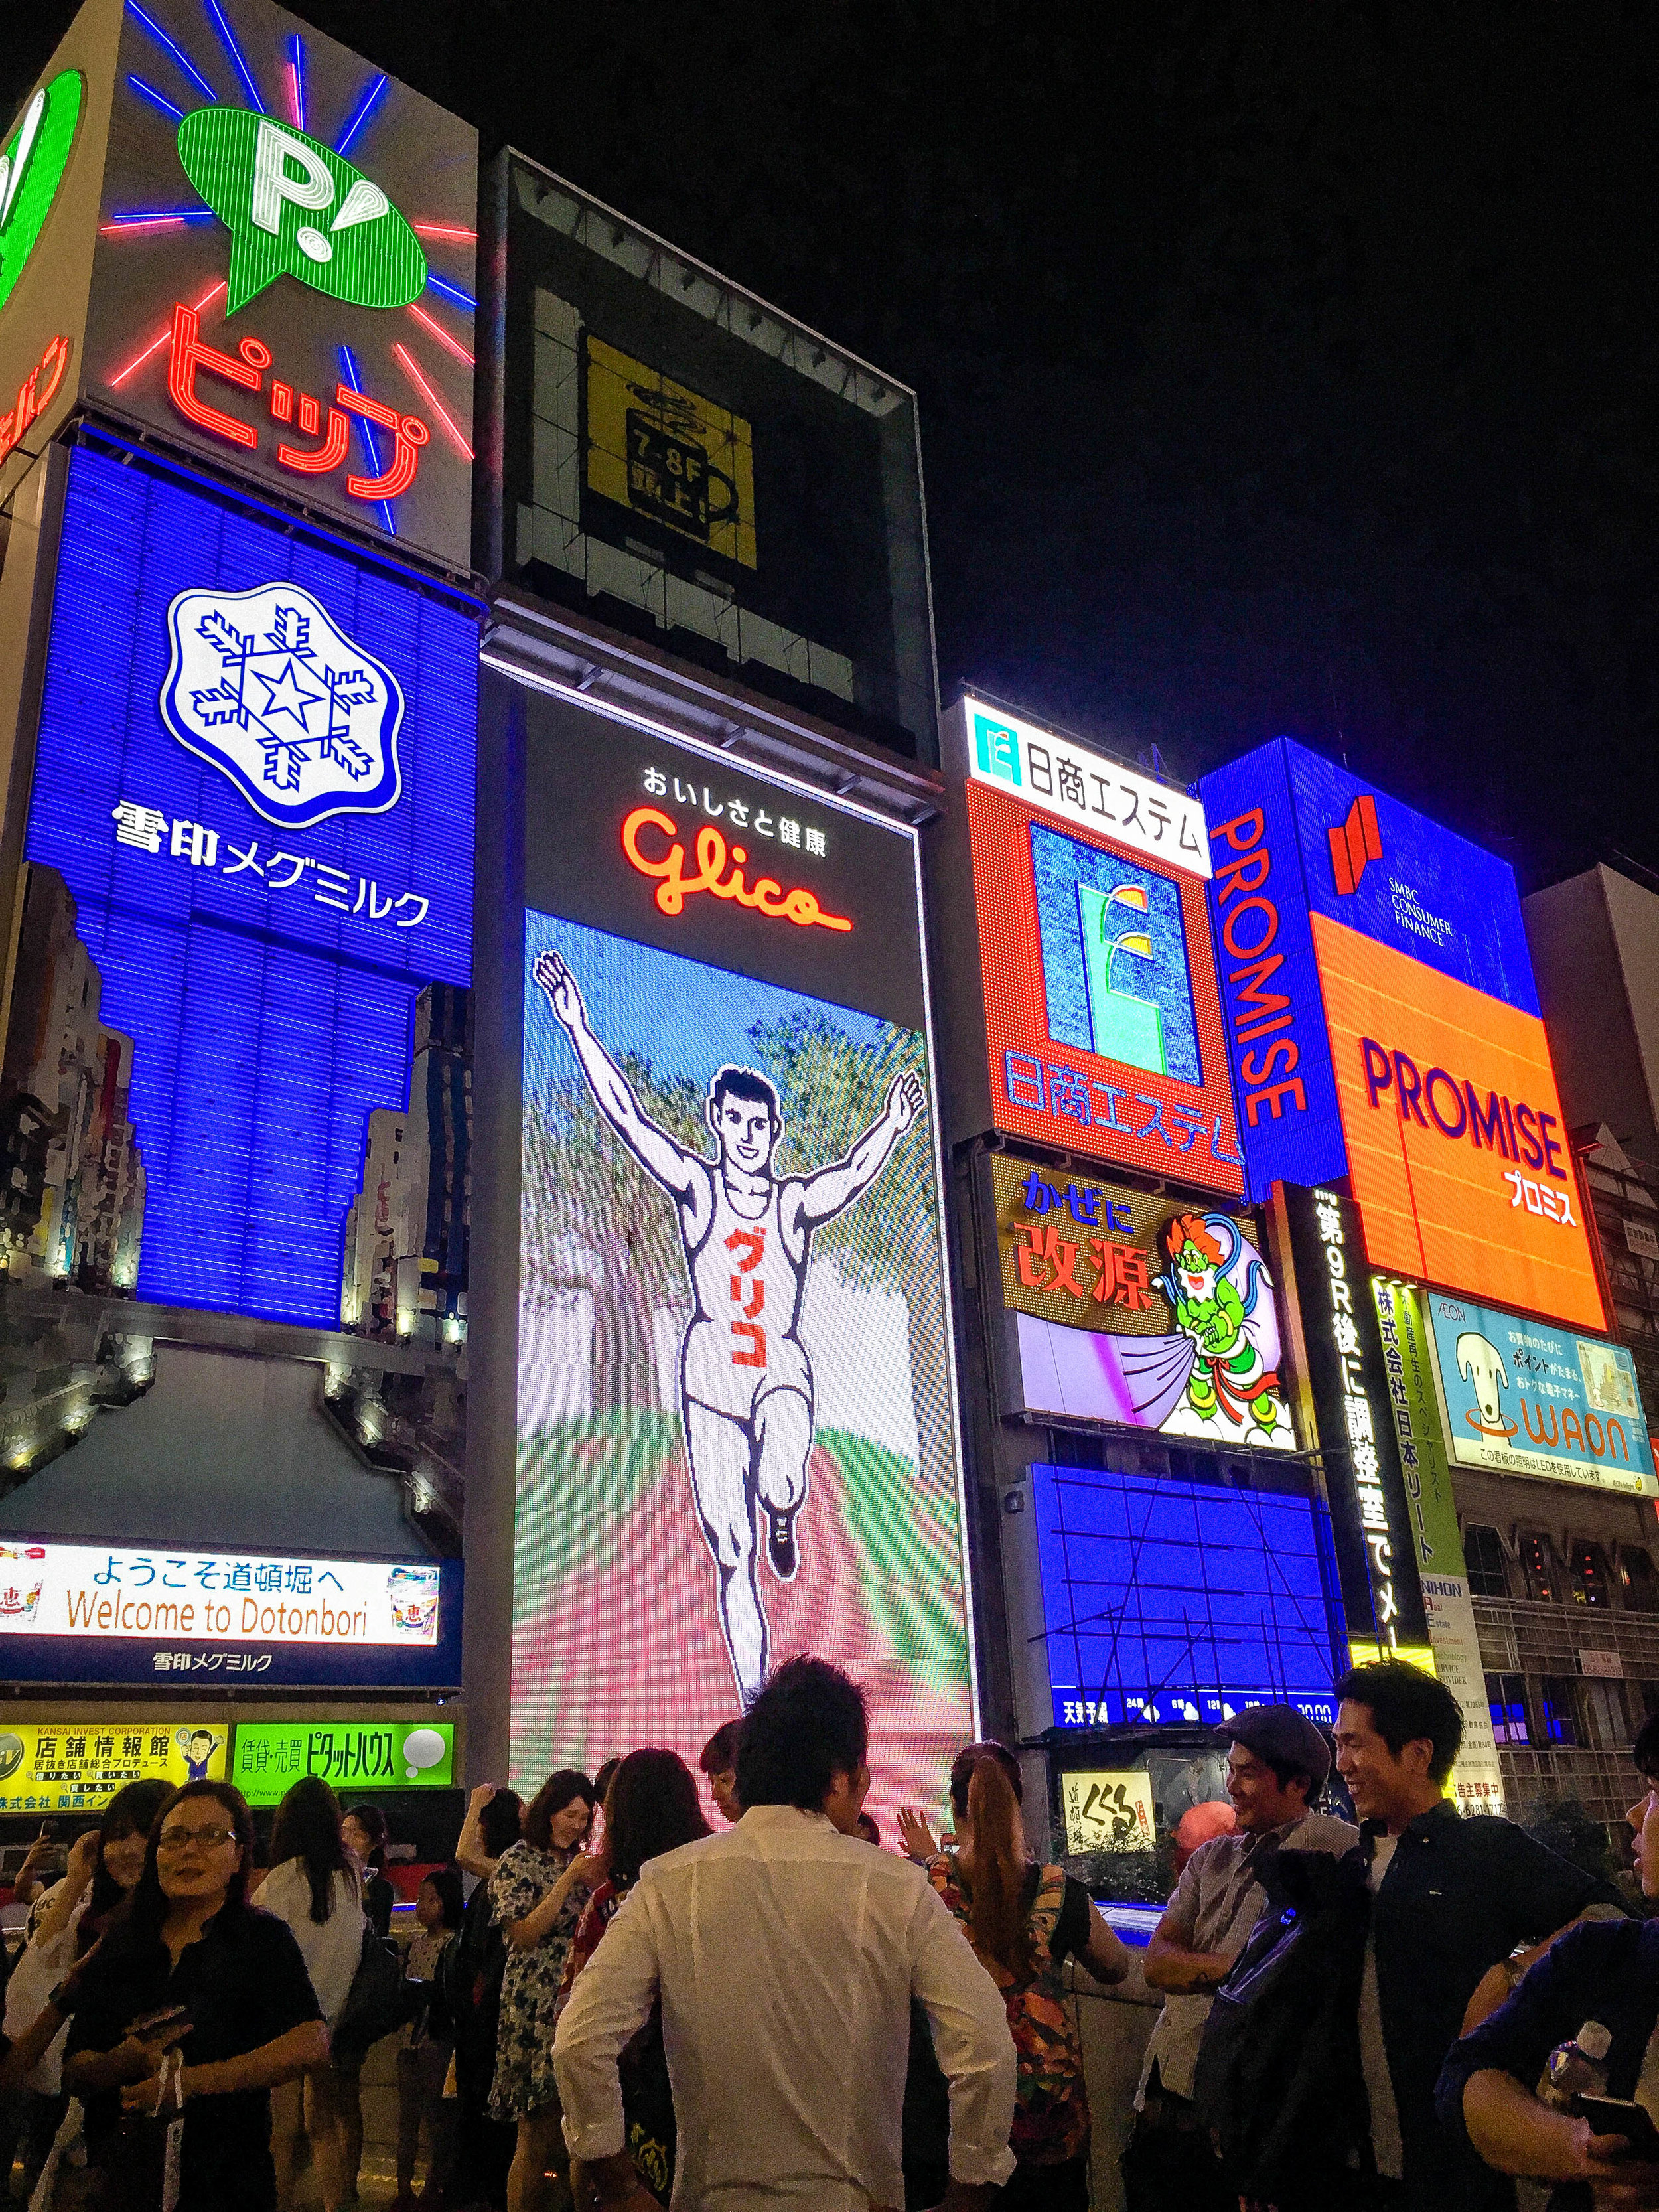
[[[97,1827],[75,1838],[64,1878],[35,1898],[24,1947],[7,1982],[4,2033],[11,2042],[38,2026],[42,2013],[55,2011],[53,1991],[64,1973],[91,1951],[117,1905],[137,1887],[150,1820],[170,1792],[173,1783],[161,1781],[117,1790]],[[66,2028],[69,2015],[58,2013],[49,2048],[27,2075],[22,2163],[31,2194],[69,2108],[62,2086]]]

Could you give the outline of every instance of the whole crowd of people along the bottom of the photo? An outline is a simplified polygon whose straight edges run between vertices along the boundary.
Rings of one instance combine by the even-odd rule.
[[[1228,1807],[1181,1823],[1146,1949],[1164,2008],[1130,2212],[1659,2208],[1659,1922],[1444,1798],[1462,1717],[1402,1663],[1332,1739],[1234,1717]],[[779,1666],[699,1778],[641,1747],[473,1792],[398,1962],[376,1807],[321,1778],[265,1854],[226,1783],[135,1783],[31,1907],[0,2084],[35,2212],[276,2212],[356,2197],[361,2066],[396,2033],[398,2205],[462,2212],[1084,2212],[1071,1971],[1133,1960],[1026,1843],[1020,1761],[967,1745],[951,1829],[885,1849],[863,1692]],[[1659,1723],[1630,1807],[1659,1898]],[[1323,1809],[1340,1778],[1343,1814]],[[1352,1809],[1354,1820],[1345,1814]],[[467,1896],[471,1882],[471,1896]]]

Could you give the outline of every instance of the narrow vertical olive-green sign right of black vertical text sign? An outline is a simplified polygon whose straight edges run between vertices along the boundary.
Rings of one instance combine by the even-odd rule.
[[[1475,1608],[1469,1597],[1469,1571],[1458,1533],[1458,1502],[1451,1495],[1451,1467],[1440,1433],[1440,1411],[1433,1402],[1422,1292],[1374,1276],[1371,1301],[1383,1338],[1383,1367],[1400,1447],[1433,1670],[1462,1705],[1462,1745],[1447,1794],[1464,1812],[1502,1812],[1504,1776],[1498,1765],[1498,1739],[1491,1730]]]

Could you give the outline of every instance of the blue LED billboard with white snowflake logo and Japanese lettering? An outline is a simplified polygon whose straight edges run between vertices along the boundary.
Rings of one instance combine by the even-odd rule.
[[[476,721],[467,602],[71,456],[24,927],[40,1006],[84,978],[135,1161],[111,1287],[338,1325],[367,1115],[407,1102],[416,995],[471,982]],[[42,1221],[35,1263],[71,1274]]]

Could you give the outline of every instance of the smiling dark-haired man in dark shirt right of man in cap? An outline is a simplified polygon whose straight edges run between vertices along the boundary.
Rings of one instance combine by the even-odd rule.
[[[1515,2201],[1511,2183],[1436,2119],[1440,2066],[1493,1969],[1506,1964],[1513,1986],[1564,1927],[1586,1909],[1617,1913],[1619,1898],[1511,1820],[1460,1818],[1444,1781],[1462,1710],[1433,1674],[1380,1659],[1336,1694],[1336,1770],[1363,1823],[1374,1898],[1360,1989],[1374,2203],[1498,2212]]]

